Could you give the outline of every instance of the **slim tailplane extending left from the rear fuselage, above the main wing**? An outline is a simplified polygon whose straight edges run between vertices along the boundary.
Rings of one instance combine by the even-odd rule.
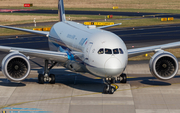
[[[0,25],[0,27],[7,28],[7,29],[18,30],[18,31],[24,31],[24,32],[28,32],[28,33],[33,33],[33,34],[45,36],[45,37],[49,36],[49,32],[47,32],[47,31],[35,31],[35,30],[30,30],[30,29],[23,29],[23,28],[10,27],[10,26],[2,26],[2,25]]]

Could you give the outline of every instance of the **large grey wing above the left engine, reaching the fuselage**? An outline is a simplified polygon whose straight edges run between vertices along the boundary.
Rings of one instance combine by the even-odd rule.
[[[58,61],[58,62],[66,62],[68,60],[67,53],[63,53],[63,52],[25,49],[25,48],[16,48],[16,47],[7,47],[7,46],[0,46],[0,51],[4,51],[4,52],[18,51],[25,55],[39,57],[47,60]]]

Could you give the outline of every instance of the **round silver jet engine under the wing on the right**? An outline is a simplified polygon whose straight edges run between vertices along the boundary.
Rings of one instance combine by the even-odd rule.
[[[160,80],[169,80],[178,72],[178,60],[167,51],[160,50],[156,52],[149,62],[149,68],[156,78]]]

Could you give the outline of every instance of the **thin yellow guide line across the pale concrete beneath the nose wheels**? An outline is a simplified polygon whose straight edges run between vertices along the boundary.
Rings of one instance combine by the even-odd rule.
[[[176,85],[176,84],[180,84],[180,83],[174,83],[171,85]],[[122,90],[117,90],[117,91],[127,91],[127,90],[143,89],[143,88],[150,88],[150,87],[160,87],[160,86],[158,86],[158,85],[156,85],[156,86],[144,86],[144,87],[137,87],[137,88],[122,89]],[[42,99],[42,100],[35,100],[35,101],[27,101],[27,102],[20,102],[20,103],[14,103],[14,104],[8,104],[8,105],[1,106],[0,109],[6,108],[6,107],[12,107],[12,106],[16,106],[16,105],[22,105],[22,104],[26,104],[26,103],[31,103],[31,102],[39,102],[39,101],[55,100],[55,99],[62,99],[62,98],[79,97],[79,96],[87,96],[87,95],[93,95],[93,94],[102,94],[102,92],[82,94],[82,95],[74,95],[74,96],[65,96],[65,97],[58,97],[58,98],[51,98],[51,99]]]

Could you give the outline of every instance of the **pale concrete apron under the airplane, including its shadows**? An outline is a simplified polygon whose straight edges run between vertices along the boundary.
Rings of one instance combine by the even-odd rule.
[[[160,81],[143,74],[147,65],[130,62],[125,71],[128,82],[115,83],[119,88],[114,94],[102,93],[101,79],[61,66],[51,71],[56,75],[56,84],[38,84],[37,75],[42,72],[38,66],[21,83],[9,82],[0,73],[0,110],[6,113],[179,113],[180,76]],[[142,73],[132,73],[136,69]]]

